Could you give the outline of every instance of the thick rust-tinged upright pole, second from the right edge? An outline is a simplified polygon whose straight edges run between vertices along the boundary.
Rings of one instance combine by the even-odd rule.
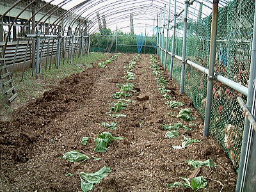
[[[216,39],[218,29],[218,8],[219,0],[214,0],[212,5],[212,26],[211,26],[211,42],[210,42],[210,56],[209,56],[209,74],[207,77],[207,101],[205,108],[204,120],[204,136],[209,136],[210,120],[211,120],[211,106],[212,106],[212,88],[214,81],[214,63],[216,58]]]

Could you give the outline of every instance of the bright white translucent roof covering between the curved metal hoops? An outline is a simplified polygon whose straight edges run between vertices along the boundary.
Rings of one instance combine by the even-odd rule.
[[[13,7],[19,6],[21,1],[17,1]],[[28,9],[35,1],[38,0],[31,0],[31,3],[24,9]],[[45,22],[53,12],[58,12],[61,9],[64,12],[54,22],[54,25],[64,22],[65,27],[74,28],[75,21],[79,20],[81,23],[79,28],[87,28],[91,34],[99,31],[97,13],[100,17],[104,15],[106,24],[111,29],[115,29],[116,25],[122,25],[123,28],[128,27],[130,13],[134,18],[134,26],[157,26],[157,17],[160,16],[160,13],[164,13],[164,6],[166,6],[165,20],[166,22],[168,20],[168,0],[46,0],[44,2],[54,5],[54,8],[45,13],[41,22]],[[177,13],[184,9],[184,2],[185,0],[177,0]],[[188,19],[198,19],[200,4],[203,4],[202,18],[211,15],[212,1],[190,0],[190,2],[193,4],[189,6]],[[225,6],[228,2],[220,0],[219,4]],[[172,20],[174,0],[170,0],[170,3],[170,19]],[[180,14],[178,20],[182,19],[182,16],[183,13]]]

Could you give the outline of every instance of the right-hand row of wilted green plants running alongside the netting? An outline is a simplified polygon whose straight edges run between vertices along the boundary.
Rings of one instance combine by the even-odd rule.
[[[166,100],[165,104],[168,105],[170,109],[177,109],[184,104],[177,100],[173,100],[172,96],[169,94],[171,91],[166,89],[166,85],[168,81],[163,77],[163,70],[158,65],[158,62],[154,55],[150,56],[150,68],[153,70],[153,74],[156,76],[157,88],[159,93],[161,93]],[[175,113],[166,113],[166,115],[176,116]],[[184,108],[180,109],[179,114],[176,116],[177,118],[183,119],[186,122],[190,122],[191,120],[195,120],[195,117],[192,116],[191,109]],[[174,123],[173,125],[165,125],[162,124],[164,130],[168,130],[165,134],[165,138],[177,138],[180,136],[180,129],[184,129],[185,131],[193,131],[193,127],[195,124],[184,125],[182,122]],[[181,145],[173,145],[172,148],[176,150],[181,150],[182,148],[186,148],[193,143],[199,143],[200,140],[196,140],[193,138],[187,138],[182,135],[182,143]],[[194,159],[188,159],[186,161],[190,166],[195,169],[195,172],[200,170],[202,166],[208,166],[210,169],[216,167],[216,164],[212,161],[212,159],[207,159],[206,161],[195,161]],[[168,188],[191,188],[194,191],[198,191],[199,189],[204,189],[207,186],[207,180],[204,176],[193,177],[193,178],[185,178],[180,177],[180,179],[184,180],[184,182],[174,182],[173,184],[167,184]]]

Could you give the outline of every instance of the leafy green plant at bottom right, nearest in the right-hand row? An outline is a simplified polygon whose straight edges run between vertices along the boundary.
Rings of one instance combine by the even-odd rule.
[[[207,180],[204,179],[203,176],[195,177],[191,179],[191,181],[184,177],[180,177],[180,179],[183,179],[186,182],[174,182],[173,184],[167,184],[167,188],[183,187],[191,188],[194,191],[198,191],[199,189],[204,189],[207,186]]]

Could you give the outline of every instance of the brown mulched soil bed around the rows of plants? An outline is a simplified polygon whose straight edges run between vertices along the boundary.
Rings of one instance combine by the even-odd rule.
[[[175,150],[182,136],[164,138],[166,131],[161,124],[184,122],[173,116],[179,109],[170,109],[156,87],[156,79],[149,68],[150,56],[141,55],[134,72],[140,90],[129,99],[147,94],[150,99],[129,104],[122,113],[127,118],[113,119],[106,115],[111,95],[118,92],[116,83],[125,83],[124,66],[134,54],[122,54],[108,68],[95,65],[79,74],[65,78],[58,86],[47,91],[34,102],[26,104],[13,113],[12,122],[0,122],[0,191],[81,191],[79,172],[96,172],[103,166],[111,168],[108,175],[93,191],[191,191],[190,189],[168,189],[166,183],[182,181],[193,169],[185,163],[188,159],[205,161],[209,158],[216,168],[202,168],[200,175],[207,180],[202,191],[235,191],[236,172],[223,149],[212,138],[204,138],[203,122],[193,109],[191,100],[179,94],[179,86],[170,81],[168,88],[172,97],[183,102],[182,108],[191,108],[196,120],[194,131],[184,135],[201,140],[188,148]],[[166,78],[168,77],[165,74]],[[102,127],[102,122],[118,122],[116,130]],[[97,138],[97,134],[109,131],[124,140],[113,141],[106,153],[93,151],[95,143],[81,145],[81,138]],[[90,159],[84,163],[70,163],[61,159],[62,154],[79,150],[100,161]],[[74,176],[67,177],[67,173]],[[221,183],[221,184],[220,184]]]

